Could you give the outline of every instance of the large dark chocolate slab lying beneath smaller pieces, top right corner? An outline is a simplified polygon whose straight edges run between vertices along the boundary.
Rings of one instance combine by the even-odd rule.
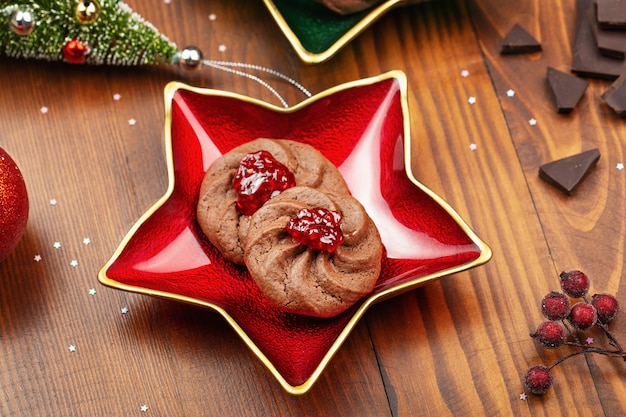
[[[589,77],[614,80],[626,72],[626,60],[604,56],[598,50],[587,20],[593,0],[576,0],[576,38],[572,48],[572,71]]]

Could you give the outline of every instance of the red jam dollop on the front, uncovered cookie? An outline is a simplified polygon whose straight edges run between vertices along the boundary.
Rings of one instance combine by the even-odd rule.
[[[343,243],[341,214],[323,207],[300,210],[289,219],[286,230],[309,249],[332,253]]]

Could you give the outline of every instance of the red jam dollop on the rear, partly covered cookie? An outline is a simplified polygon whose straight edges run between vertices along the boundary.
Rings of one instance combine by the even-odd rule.
[[[241,159],[233,178],[237,211],[251,216],[267,200],[296,185],[289,169],[267,151],[249,153]]]

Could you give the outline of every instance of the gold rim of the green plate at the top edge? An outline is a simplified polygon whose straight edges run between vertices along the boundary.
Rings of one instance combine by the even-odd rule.
[[[333,43],[328,49],[322,52],[311,52],[302,45],[300,39],[291,30],[291,27],[287,24],[287,21],[281,14],[280,10],[276,7],[272,0],[263,0],[265,6],[269,10],[270,14],[278,24],[281,32],[287,38],[292,48],[296,51],[302,61],[307,64],[320,64],[324,61],[332,58],[341,48],[346,46],[350,41],[356,38],[361,32],[367,29],[373,22],[378,20],[383,14],[390,9],[399,5],[408,5],[412,3],[420,3],[428,0],[387,0],[374,7],[369,13],[367,13],[363,19],[361,19],[356,25],[350,28],[344,33],[335,43]]]

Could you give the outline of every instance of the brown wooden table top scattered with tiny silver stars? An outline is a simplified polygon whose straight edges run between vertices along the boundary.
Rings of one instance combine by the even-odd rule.
[[[574,0],[436,0],[394,9],[320,65],[297,58],[261,1],[130,5],[179,45],[274,68],[313,92],[404,71],[415,176],[460,213],[493,259],[375,305],[312,389],[290,395],[218,314],[97,281],[165,192],[166,83],[275,98],[209,69],[189,75],[3,57],[0,146],[18,162],[31,208],[23,240],[0,264],[0,415],[626,414],[626,366],[598,355],[564,362],[546,395],[520,399],[526,369],[568,351],[547,351],[529,337],[559,272],[584,270],[592,292],[626,302],[626,171],[616,168],[626,162],[625,121],[600,100],[608,81],[589,80],[570,115],[556,113],[546,85],[547,66],[571,65]],[[501,56],[514,23],[543,52]],[[278,90],[291,103],[302,100],[287,85]],[[539,179],[541,164],[594,147],[600,162],[574,196]],[[622,340],[623,314],[612,324]]]

